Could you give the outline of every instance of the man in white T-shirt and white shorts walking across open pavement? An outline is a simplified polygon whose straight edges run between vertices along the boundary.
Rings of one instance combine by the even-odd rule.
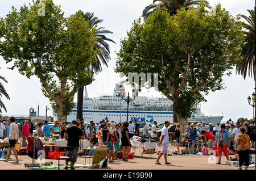
[[[164,154],[164,164],[171,164],[170,162],[167,161],[167,153],[168,153],[168,142],[169,142],[169,133],[168,133],[168,127],[170,126],[169,121],[164,122],[164,127],[162,129],[161,137],[160,137],[160,142],[159,145],[162,144],[162,150],[158,155],[158,159],[156,159],[155,164],[161,165],[159,162],[159,159],[162,157]]]

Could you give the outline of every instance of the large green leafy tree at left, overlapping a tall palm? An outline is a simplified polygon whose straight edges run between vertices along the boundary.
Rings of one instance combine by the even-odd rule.
[[[30,78],[35,75],[42,91],[51,101],[59,121],[67,121],[74,107],[73,95],[94,80],[90,65],[96,62],[95,29],[77,12],[68,18],[53,1],[41,1],[45,15],[39,13],[40,1],[15,7],[1,18],[0,54],[11,69]],[[32,85],[31,85],[32,86]]]

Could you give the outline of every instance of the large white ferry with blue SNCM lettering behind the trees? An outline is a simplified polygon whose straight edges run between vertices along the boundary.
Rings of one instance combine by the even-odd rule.
[[[123,85],[121,85],[123,86]],[[127,119],[127,102],[122,100],[120,94],[121,87],[118,83],[115,85],[113,95],[102,95],[100,97],[89,98],[85,87],[85,96],[83,102],[83,117],[85,122],[93,121],[98,124],[102,119],[114,120],[115,122],[123,122]],[[127,98],[126,92],[124,98]],[[132,96],[130,96],[133,99]],[[146,121],[152,123],[154,120],[158,124],[168,120],[170,123],[174,121],[174,112],[172,110],[172,101],[168,98],[150,98],[147,96],[136,96],[129,103],[128,121],[137,120],[138,123]],[[72,112],[67,116],[67,121],[71,122],[76,119],[77,106],[72,109]],[[53,115],[55,120],[57,115]],[[206,124],[212,123],[213,126],[217,122],[221,122],[223,116],[204,116],[201,113],[201,107],[196,105],[196,113],[188,121],[204,121]]]

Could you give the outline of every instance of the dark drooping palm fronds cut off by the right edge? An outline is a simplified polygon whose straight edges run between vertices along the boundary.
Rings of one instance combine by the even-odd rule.
[[[243,60],[237,67],[237,72],[243,75],[244,79],[248,72],[249,77],[253,77],[255,81],[255,6],[254,10],[247,11],[249,16],[241,15],[247,21],[247,23],[243,23],[246,28],[244,31],[246,39],[241,51]]]

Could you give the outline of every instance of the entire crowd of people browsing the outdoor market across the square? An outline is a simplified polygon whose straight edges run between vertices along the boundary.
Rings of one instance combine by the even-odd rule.
[[[144,125],[143,136],[148,136],[148,129],[146,123],[142,123]],[[203,143],[208,146],[208,148],[213,148],[213,146],[217,146],[218,149],[218,162],[221,163],[221,155],[224,153],[227,160],[229,160],[228,149],[233,150],[239,156],[239,169],[241,169],[242,165],[245,164],[245,168],[249,166],[249,151],[250,147],[254,147],[255,141],[255,121],[251,125],[247,121],[240,125],[240,122],[236,123],[236,127],[234,124],[229,125],[229,129],[226,129],[225,124],[217,123],[217,125],[213,128],[212,124],[208,126],[203,122],[194,123],[188,122],[188,126],[185,129],[185,132],[188,134],[188,139],[192,141],[203,140]],[[7,127],[6,127],[7,125]],[[43,127],[44,125],[44,127]],[[156,141],[158,137],[158,132],[156,131],[157,121],[153,122],[151,128],[151,137]],[[168,127],[170,126],[170,122],[166,121],[164,123],[164,127],[162,129],[162,133],[160,136],[160,141],[158,145],[162,146],[162,150],[158,158],[156,159],[156,164],[161,164],[159,159],[164,155],[164,163],[171,164],[167,161],[167,153],[168,153],[168,142],[169,142],[169,134]],[[129,154],[131,149],[131,141],[130,138],[135,136],[139,136],[139,124],[137,120],[134,120],[134,125],[132,121],[130,123],[125,121],[123,123],[114,123],[114,120],[109,122],[108,120],[100,121],[100,124],[96,127],[96,124],[93,121],[90,121],[89,125],[84,123],[84,119],[73,120],[71,126],[68,127],[68,123],[64,122],[62,125],[59,121],[55,121],[55,125],[49,125],[48,121],[38,123],[38,136],[50,136],[51,132],[52,136],[59,139],[65,139],[68,141],[67,146],[72,148],[72,165],[75,164],[77,155],[84,154],[84,150],[78,151],[79,140],[80,139],[88,139],[91,144],[96,145],[108,145],[108,159],[109,162],[114,162],[117,158],[117,153],[120,150],[120,146],[123,147],[122,150],[122,160],[127,162],[127,154]],[[43,128],[42,128],[43,127]],[[22,147],[27,146],[27,137],[32,136],[33,134],[34,124],[31,120],[26,120],[22,128],[20,129],[20,124],[15,124],[15,117],[11,116],[7,119],[7,124],[1,123],[0,120],[0,139],[9,138],[9,153],[5,162],[8,162],[11,151],[13,151],[15,156],[14,162],[19,162],[18,155],[15,150],[16,141],[22,137]],[[183,131],[181,130],[181,125],[179,123],[176,124],[175,129],[175,138],[177,150],[179,151],[179,142],[181,141],[181,134]],[[189,145],[190,146],[190,145]],[[64,169],[67,169],[68,160],[66,161],[66,165]],[[75,169],[75,168],[73,168]]]

